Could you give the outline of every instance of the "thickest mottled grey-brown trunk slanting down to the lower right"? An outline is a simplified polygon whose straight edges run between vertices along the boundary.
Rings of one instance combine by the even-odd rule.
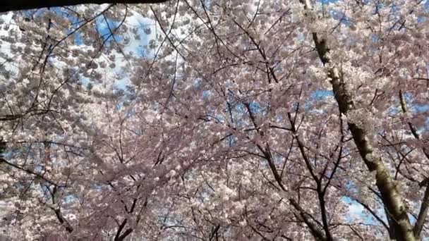
[[[310,1],[300,1],[305,5],[306,10],[313,11]],[[328,77],[330,78],[334,97],[339,106],[339,112],[347,116],[347,113],[356,110],[354,100],[346,89],[346,82],[339,69],[329,56],[330,48],[327,39],[320,38],[317,32],[313,32],[312,35],[320,61],[322,61],[323,65],[329,66]],[[394,219],[392,223],[394,225],[392,227],[394,236],[397,240],[416,240],[416,237],[413,235],[404,200],[399,194],[396,185],[394,185],[392,177],[385,167],[382,158],[380,156],[375,156],[373,144],[370,143],[370,138],[368,138],[368,130],[350,121],[348,121],[347,124],[349,125],[349,130],[365,165],[370,172],[375,172],[375,183],[380,191],[382,202],[385,204],[392,219]]]

